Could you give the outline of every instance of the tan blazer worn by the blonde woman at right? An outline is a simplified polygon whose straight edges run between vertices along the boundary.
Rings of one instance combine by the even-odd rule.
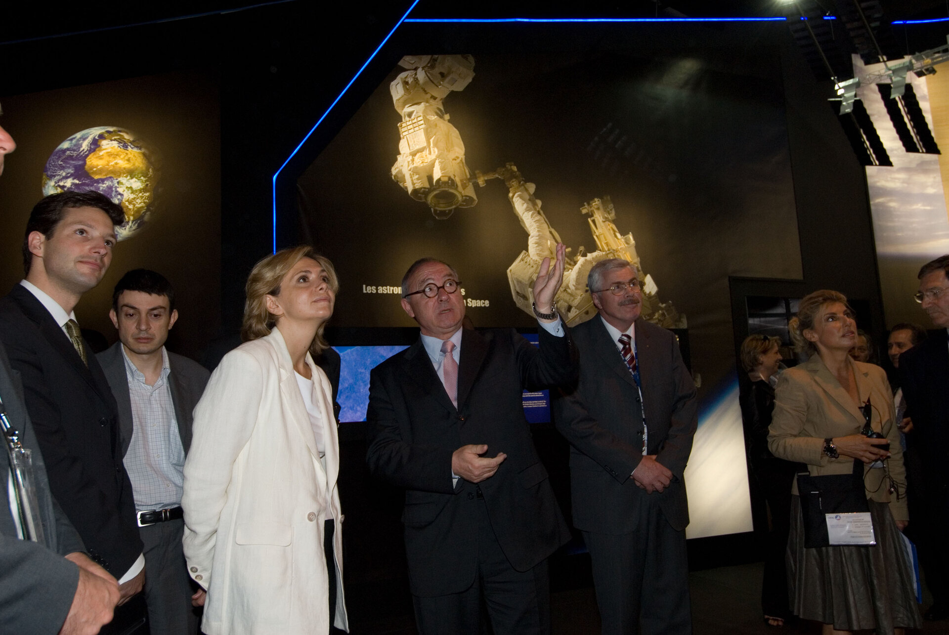
[[[884,470],[865,465],[866,497],[889,503],[894,518],[908,520],[900,431],[894,422],[893,393],[886,381],[884,369],[850,359],[847,359],[847,363],[853,367],[860,402],[869,398],[873,406],[870,424],[889,439],[892,454],[887,461],[889,473],[899,483],[902,493],[899,500],[895,495],[890,496],[888,483],[884,481]],[[811,476],[849,474],[853,470],[854,459],[844,456],[828,458],[824,454],[824,439],[859,433],[864,427],[864,415],[820,356],[813,355],[804,364],[781,373],[774,392],[774,414],[768,435],[768,447],[772,454],[777,458],[807,463]],[[796,480],[791,494],[797,495]]]

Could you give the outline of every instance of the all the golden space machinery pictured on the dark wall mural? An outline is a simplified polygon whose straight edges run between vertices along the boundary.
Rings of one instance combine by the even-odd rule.
[[[533,315],[533,282],[544,258],[556,256],[560,235],[550,226],[541,209],[541,200],[534,196],[536,187],[527,182],[508,163],[493,172],[475,172],[474,178],[465,163],[465,146],[456,127],[448,122],[442,103],[453,90],[460,91],[474,77],[471,55],[407,55],[400,73],[389,92],[400,113],[399,158],[392,166],[392,177],[409,196],[428,203],[432,214],[446,219],[457,207],[473,207],[477,203],[474,181],[481,187],[488,180],[500,178],[508,186],[508,199],[514,215],[528,233],[528,249],[508,268],[508,281],[514,303]],[[685,315],[679,314],[671,302],[660,302],[659,288],[652,276],[643,275],[636,241],[632,233],[617,229],[616,212],[609,196],[594,198],[580,213],[587,221],[597,249],[587,253],[581,246],[576,254],[568,249],[564,284],[555,303],[568,326],[585,322],[596,314],[586,276],[600,260],[622,258],[632,265],[642,281],[642,318],[666,328],[685,328]]]

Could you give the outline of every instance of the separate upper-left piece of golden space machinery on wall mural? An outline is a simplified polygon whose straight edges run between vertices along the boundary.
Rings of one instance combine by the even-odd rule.
[[[474,77],[471,55],[406,55],[389,92],[402,121],[399,159],[392,177],[416,200],[444,220],[457,207],[477,202],[471,173],[465,164],[465,144],[442,102],[453,90],[463,90]]]

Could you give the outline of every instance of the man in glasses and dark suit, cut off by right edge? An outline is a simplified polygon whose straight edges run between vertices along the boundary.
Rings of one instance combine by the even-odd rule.
[[[921,471],[921,477],[914,479],[919,482],[909,483],[917,490],[911,502],[919,502],[912,508],[910,523],[920,537],[920,563],[933,594],[933,605],[923,617],[944,620],[949,618],[949,254],[923,265],[919,279],[916,301],[937,330],[929,331],[929,337],[899,358],[906,416],[913,421],[906,440]]]

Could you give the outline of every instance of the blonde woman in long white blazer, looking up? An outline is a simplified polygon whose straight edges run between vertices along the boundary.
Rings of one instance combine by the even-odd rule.
[[[184,466],[184,553],[208,635],[348,630],[337,489],[339,439],[326,348],[336,272],[303,246],[247,282],[245,344],[195,408]]]

